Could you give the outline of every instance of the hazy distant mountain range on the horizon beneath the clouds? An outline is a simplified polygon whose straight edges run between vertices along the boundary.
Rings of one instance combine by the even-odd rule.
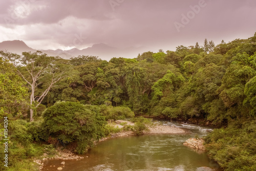
[[[7,50],[8,52],[22,54],[22,52],[35,52],[35,49],[28,47],[24,41],[12,40],[3,41],[0,43],[0,50]],[[145,52],[144,47],[135,48],[130,47],[126,49],[118,49],[111,47],[106,44],[95,44],[92,47],[79,50],[73,48],[71,50],[63,51],[61,49],[57,50],[41,50],[43,53],[47,53],[48,56],[59,56],[64,59],[69,59],[71,57],[77,57],[79,55],[92,55],[99,56],[103,60],[110,60],[113,57],[124,57],[124,58],[135,58],[139,53]]]

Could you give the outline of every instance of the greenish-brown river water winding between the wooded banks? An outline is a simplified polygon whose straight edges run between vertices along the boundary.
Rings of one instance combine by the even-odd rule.
[[[195,171],[199,167],[221,170],[205,152],[183,143],[195,135],[203,137],[211,128],[186,123],[162,122],[189,131],[185,135],[141,135],[116,137],[99,142],[82,160],[67,160],[63,171],[83,170],[176,170]],[[57,170],[62,160],[47,160],[42,170]],[[55,166],[55,167],[53,167]]]

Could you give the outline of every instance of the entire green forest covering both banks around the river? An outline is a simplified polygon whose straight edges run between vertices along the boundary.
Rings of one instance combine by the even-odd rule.
[[[204,137],[208,156],[224,170],[256,170],[256,33],[110,61],[40,51],[0,56],[0,129],[8,118],[9,170],[32,170],[25,161],[60,142],[83,154],[112,131],[107,120],[134,116],[214,125]],[[6,138],[0,136],[3,163]]]

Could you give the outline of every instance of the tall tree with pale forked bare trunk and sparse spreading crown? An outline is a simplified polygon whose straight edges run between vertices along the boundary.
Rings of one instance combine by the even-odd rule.
[[[34,109],[39,106],[54,84],[65,75],[65,70],[61,71],[63,68],[56,62],[60,58],[47,56],[41,51],[23,52],[23,55],[0,51],[0,54],[17,65],[18,74],[29,84],[30,121],[33,121]],[[44,91],[35,95],[36,88],[41,84],[44,84]]]

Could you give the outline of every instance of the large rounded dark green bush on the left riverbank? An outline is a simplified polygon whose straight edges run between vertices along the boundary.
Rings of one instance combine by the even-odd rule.
[[[78,102],[56,102],[44,113],[43,136],[56,138],[61,143],[76,142],[76,151],[83,154],[95,140],[105,135],[106,121],[100,108]]]

